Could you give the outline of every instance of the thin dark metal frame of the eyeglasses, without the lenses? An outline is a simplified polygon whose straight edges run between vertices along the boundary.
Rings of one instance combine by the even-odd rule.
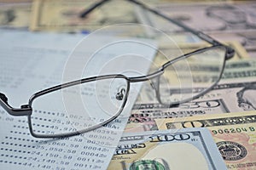
[[[86,16],[91,11],[93,11],[93,9],[101,6],[103,3],[106,3],[108,1],[109,0],[102,0],[101,2],[94,4],[93,6],[88,8],[86,11],[84,11],[84,13],[81,14],[80,17]],[[172,65],[173,63],[177,62],[180,59],[186,59],[186,58],[188,58],[191,55],[200,54],[200,53],[202,53],[204,51],[207,51],[209,49],[212,49],[212,48],[222,47],[222,48],[225,49],[226,53],[225,53],[225,56],[224,56],[225,57],[224,58],[224,65],[225,65],[225,60],[231,59],[234,56],[234,54],[235,54],[235,50],[233,48],[230,48],[230,47],[228,47],[228,46],[226,46],[226,45],[216,41],[215,39],[213,39],[212,37],[207,36],[206,34],[204,34],[201,31],[196,31],[195,29],[192,29],[189,26],[185,26],[185,25],[183,25],[183,23],[180,23],[177,20],[173,20],[172,18],[167,17],[165,14],[161,14],[159,11],[157,11],[157,10],[155,10],[153,8],[149,8],[148,6],[146,6],[143,3],[138,2],[137,0],[126,0],[126,1],[131,2],[131,3],[135,3],[135,4],[139,5],[140,7],[144,8],[144,9],[147,9],[149,12],[154,13],[156,15],[159,15],[160,17],[166,19],[167,21],[170,21],[173,24],[182,27],[185,31],[189,31],[189,32],[193,33],[195,36],[200,37],[202,40],[211,43],[212,46],[208,47],[208,48],[201,48],[201,49],[195,50],[195,51],[193,51],[193,52],[191,52],[189,54],[183,54],[182,56],[179,56],[179,57],[177,57],[175,59],[169,60],[168,62],[166,62],[166,64],[162,65],[158,71],[155,71],[155,72],[153,72],[153,73],[151,73],[149,75],[145,75],[145,76],[142,76],[142,77],[125,77],[124,75],[121,75],[121,74],[102,75],[102,76],[97,76],[97,77],[83,78],[83,79],[80,79],[80,80],[77,80],[77,81],[63,83],[61,85],[57,85],[57,86],[52,87],[52,88],[47,88],[47,89],[44,89],[42,91],[39,91],[36,94],[32,94],[32,97],[29,99],[28,104],[27,105],[21,105],[20,108],[13,108],[11,105],[8,104],[7,97],[4,94],[0,93],[0,105],[3,107],[3,109],[5,111],[7,111],[9,113],[9,115],[11,115],[11,116],[27,116],[28,117],[28,127],[29,127],[29,131],[30,131],[30,133],[32,134],[33,137],[35,137],[35,138],[63,138],[63,137],[70,137],[70,136],[73,136],[73,135],[78,135],[80,133],[89,132],[89,131],[94,130],[96,128],[102,127],[103,125],[106,125],[109,122],[112,122],[114,119],[116,119],[121,114],[121,112],[123,111],[123,109],[125,107],[125,103],[126,103],[127,98],[128,98],[129,89],[130,89],[130,83],[131,82],[144,82],[144,81],[151,80],[153,78],[157,78],[158,81],[156,83],[156,87],[154,88],[154,90],[155,90],[157,99],[159,100],[160,104],[162,104],[162,102],[160,100],[160,93],[159,93],[159,88],[160,88],[160,81],[159,81],[159,79],[160,79],[160,76],[164,73],[165,68],[168,65]],[[188,102],[188,101],[190,101],[192,99],[196,99],[199,96],[201,96],[203,94],[206,94],[208,91],[210,91],[219,82],[219,80],[221,78],[221,75],[222,75],[222,73],[224,71],[224,65],[223,65],[222,70],[220,72],[220,77],[218,77],[218,80],[216,82],[214,82],[211,87],[209,87],[206,90],[202,91],[200,94],[197,94],[197,95],[191,97],[190,99],[184,99],[183,101],[179,101],[178,103],[173,103],[172,105],[177,105],[177,104],[180,104],[180,103]],[[78,84],[81,84],[81,83],[93,82],[93,81],[103,80],[103,79],[108,79],[108,78],[124,78],[127,81],[127,89],[125,91],[126,95],[125,95],[125,99],[124,99],[123,105],[121,105],[120,110],[113,117],[111,117],[110,119],[106,120],[105,122],[97,124],[97,125],[95,125],[93,127],[84,129],[82,131],[72,132],[72,133],[37,134],[37,133],[33,132],[33,129],[32,129],[32,102],[33,102],[34,99],[36,99],[36,98],[38,98],[38,97],[40,97],[40,96],[42,96],[44,94],[49,94],[49,93],[52,93],[52,92],[54,92],[56,90],[60,90],[61,88],[68,88],[68,87],[75,86],[75,85],[78,85]]]

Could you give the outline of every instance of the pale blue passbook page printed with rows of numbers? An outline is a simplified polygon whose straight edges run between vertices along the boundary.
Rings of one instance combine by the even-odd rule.
[[[84,35],[35,34],[26,31],[1,31],[0,34],[0,91],[8,97],[9,105],[15,108],[27,104],[30,96],[40,90],[77,78],[98,74],[147,74],[155,54],[155,49],[150,48],[155,47],[154,42],[146,39],[128,40],[123,45],[120,43],[122,39],[118,37],[94,37],[94,42],[87,43],[90,46],[78,49],[79,45],[88,41]],[[99,47],[96,42],[100,42],[102,46],[104,43],[108,45],[103,46],[104,50],[92,53],[91,49]],[[84,67],[80,67],[83,65]],[[32,137],[26,116],[10,116],[1,107],[0,168],[106,169],[141,85],[132,85],[124,110],[113,122],[89,133],[62,139]],[[32,126],[36,127],[36,133],[73,131],[76,128],[75,120],[79,117],[70,112],[70,105],[75,108],[80,101],[65,103],[65,107],[59,107],[60,99],[55,99],[54,102],[45,99],[42,102],[40,108],[33,109],[35,113],[32,113]],[[49,105],[57,106],[57,109],[50,111]],[[90,106],[92,105],[86,105],[85,109]],[[93,116],[96,115],[91,114],[91,118]]]

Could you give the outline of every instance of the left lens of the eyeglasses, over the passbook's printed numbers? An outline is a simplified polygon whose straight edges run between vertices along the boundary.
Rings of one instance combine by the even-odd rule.
[[[44,94],[32,102],[32,130],[47,135],[83,133],[119,115],[128,88],[125,78],[113,77]]]

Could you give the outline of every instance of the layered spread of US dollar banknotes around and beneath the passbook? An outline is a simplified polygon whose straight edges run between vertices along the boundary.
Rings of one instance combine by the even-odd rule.
[[[86,19],[79,13],[94,1],[14,2],[0,3],[3,29],[90,33],[102,26],[141,23],[172,35],[183,53],[205,46],[142,8],[126,8],[125,0],[110,1]],[[209,93],[176,107],[160,105],[150,84],[143,84],[108,169],[256,169],[256,4],[142,2],[230,45],[236,55]],[[160,48],[172,50],[165,44]],[[203,71],[196,80],[211,77],[202,77]]]

